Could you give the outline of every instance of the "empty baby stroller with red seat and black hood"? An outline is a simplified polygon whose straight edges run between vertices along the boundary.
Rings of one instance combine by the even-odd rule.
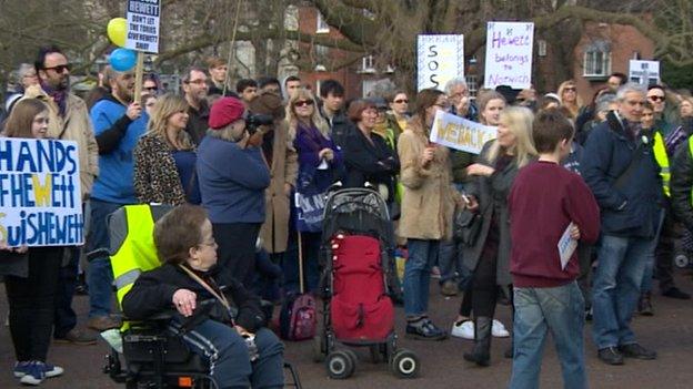
[[[325,360],[330,378],[345,379],[354,372],[356,356],[337,344],[369,347],[373,362],[386,361],[398,377],[415,377],[419,359],[398,349],[394,332],[389,296],[394,234],[385,202],[370,188],[344,188],[328,196],[324,209],[323,326],[313,339],[314,360]]]

